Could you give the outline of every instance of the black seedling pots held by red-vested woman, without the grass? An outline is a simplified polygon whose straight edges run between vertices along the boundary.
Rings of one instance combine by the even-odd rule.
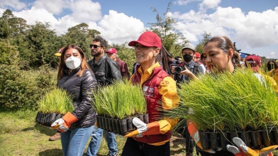
[[[148,114],[139,115],[135,117],[139,118],[146,124],[149,123]],[[127,133],[132,132],[136,129],[136,127],[132,124],[133,118],[134,117],[118,120],[102,114],[96,115],[97,126],[99,128],[119,135],[126,135]]]

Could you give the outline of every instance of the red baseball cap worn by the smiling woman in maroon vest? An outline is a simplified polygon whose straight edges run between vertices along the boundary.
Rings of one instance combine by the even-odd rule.
[[[128,43],[128,45],[135,47],[137,43],[140,43],[146,47],[158,47],[161,49],[161,39],[156,33],[151,31],[144,32],[139,36],[137,41],[131,41]]]

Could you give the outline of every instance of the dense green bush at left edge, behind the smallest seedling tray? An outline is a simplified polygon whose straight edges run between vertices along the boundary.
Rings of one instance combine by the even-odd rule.
[[[54,87],[56,72],[42,66],[39,70],[20,70],[21,64],[13,46],[0,42],[1,109],[35,109],[36,101]]]

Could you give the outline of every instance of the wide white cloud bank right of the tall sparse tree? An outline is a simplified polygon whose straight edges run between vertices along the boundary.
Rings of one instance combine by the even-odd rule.
[[[247,14],[240,8],[218,7],[212,14],[191,10],[184,14],[174,12],[169,15],[177,19],[176,27],[191,42],[198,41],[206,31],[212,36],[228,36],[241,48],[278,44],[278,7]]]

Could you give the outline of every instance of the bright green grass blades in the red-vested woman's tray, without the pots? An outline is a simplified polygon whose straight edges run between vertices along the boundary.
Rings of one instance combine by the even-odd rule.
[[[93,91],[93,107],[98,114],[123,119],[146,113],[146,100],[140,85],[127,80],[115,81],[112,85]]]

